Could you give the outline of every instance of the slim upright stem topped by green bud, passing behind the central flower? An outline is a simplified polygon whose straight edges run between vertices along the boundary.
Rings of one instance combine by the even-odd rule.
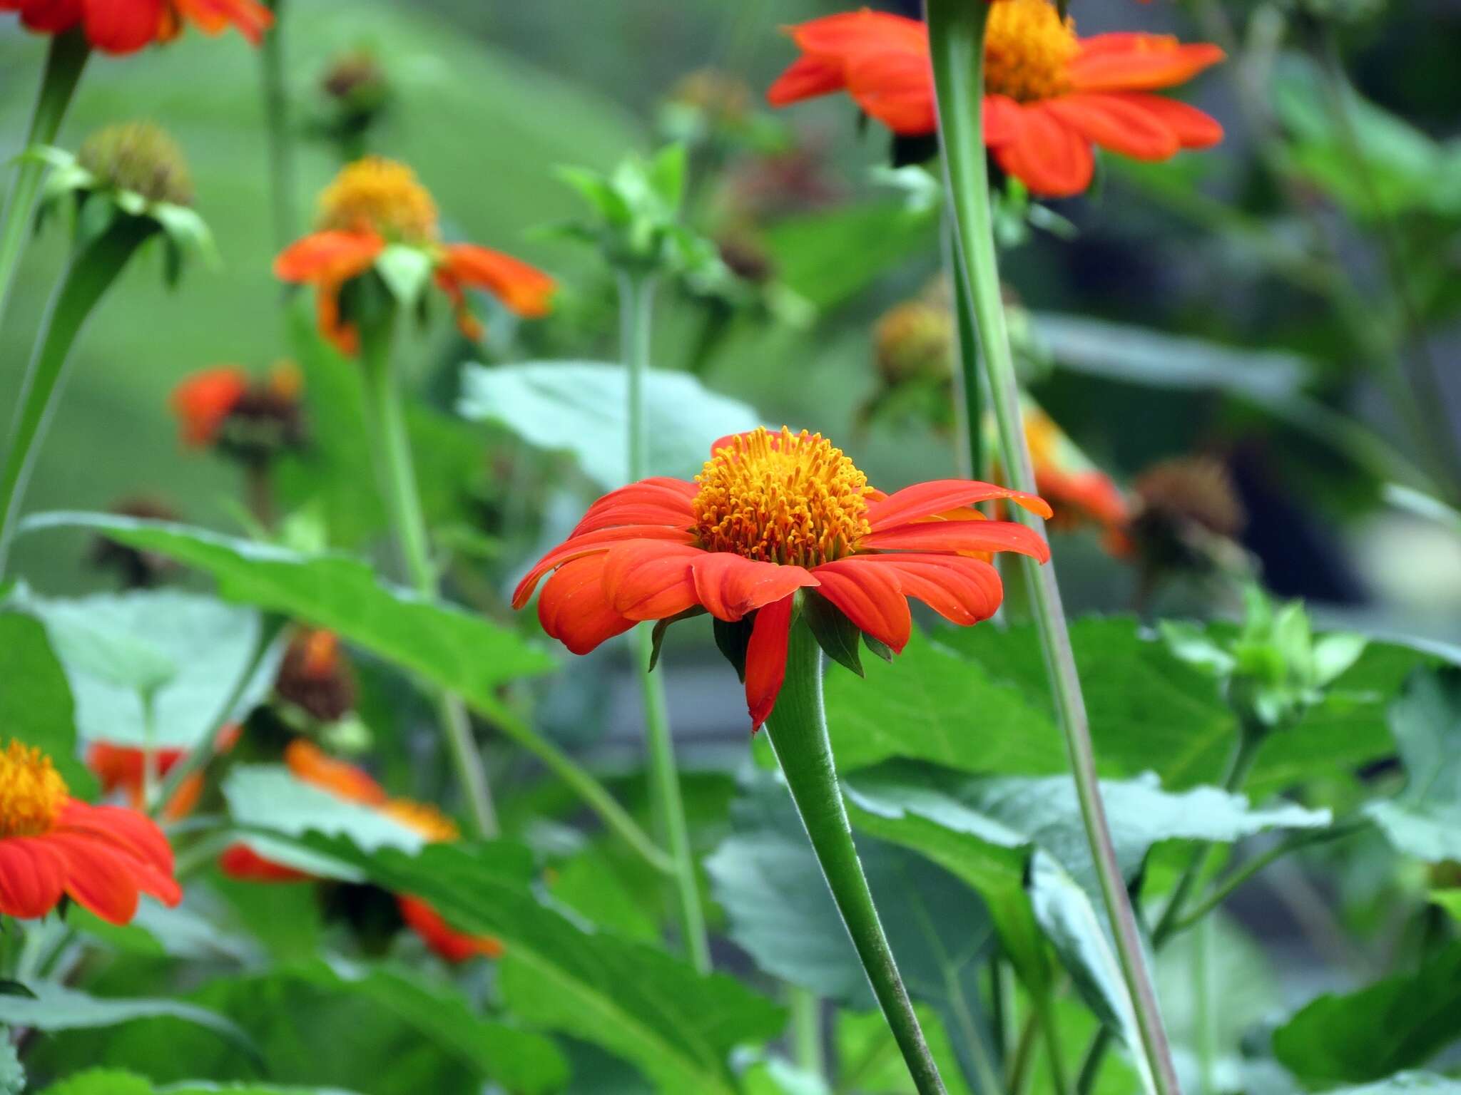
[[[649,474],[649,422],[644,413],[644,384],[649,374],[650,330],[655,318],[653,276],[619,274],[619,342],[628,378],[628,472],[630,482]],[[700,904],[700,880],[695,876],[695,856],[690,847],[690,826],[685,823],[685,803],[675,765],[675,737],[669,726],[669,705],[665,682],[649,672],[653,654],[653,625],[640,623],[633,637],[636,672],[644,698],[644,737],[649,746],[649,788],[655,828],[660,842],[669,850],[674,864],[675,911],[679,920],[681,945],[691,965],[700,972],[710,969],[710,942],[706,934],[706,914]]]

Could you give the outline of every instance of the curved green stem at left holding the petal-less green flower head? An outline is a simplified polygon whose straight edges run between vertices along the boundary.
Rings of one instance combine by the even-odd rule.
[[[118,213],[111,228],[72,256],[56,286],[20,383],[20,403],[0,472],[0,577],[6,571],[20,502],[56,410],[72,347],[127,260],[156,229],[156,222],[149,218]]]

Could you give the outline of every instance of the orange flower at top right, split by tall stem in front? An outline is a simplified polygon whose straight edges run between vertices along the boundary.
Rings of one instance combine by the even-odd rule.
[[[928,28],[885,12],[844,12],[789,28],[801,50],[767,91],[773,107],[846,91],[901,136],[937,128]],[[1134,159],[1205,149],[1223,127],[1151,92],[1223,60],[1216,45],[1170,35],[1077,38],[1048,0],[993,0],[985,38],[985,143],[1033,193],[1069,197],[1090,185],[1091,146]]]

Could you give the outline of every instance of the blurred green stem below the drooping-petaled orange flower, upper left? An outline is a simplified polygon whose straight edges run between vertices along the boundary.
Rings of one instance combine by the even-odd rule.
[[[400,384],[393,364],[396,305],[393,301],[375,304],[378,318],[361,324],[361,358],[374,418],[373,442],[378,453],[386,510],[411,584],[421,596],[435,597],[437,572],[431,564],[427,518],[421,510],[411,439],[406,435],[406,418],[400,406]],[[482,753],[472,737],[472,721],[466,705],[460,696],[438,691],[435,707],[451,766],[472,816],[472,826],[479,837],[495,837],[498,828],[497,812],[492,809],[492,790],[487,781]]]

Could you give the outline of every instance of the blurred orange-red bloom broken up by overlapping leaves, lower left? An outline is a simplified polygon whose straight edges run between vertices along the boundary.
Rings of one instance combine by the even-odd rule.
[[[289,743],[285,749],[285,764],[297,780],[326,790],[337,799],[378,810],[431,844],[454,841],[462,835],[456,822],[435,806],[409,799],[392,799],[367,771],[327,756],[304,739]],[[231,877],[250,882],[304,882],[310,877],[304,872],[272,863],[243,844],[228,848],[219,860],[219,867]],[[421,898],[400,894],[396,896],[396,905],[406,926],[447,962],[465,962],[476,955],[485,958],[503,955],[500,940],[453,930],[441,914]]]

